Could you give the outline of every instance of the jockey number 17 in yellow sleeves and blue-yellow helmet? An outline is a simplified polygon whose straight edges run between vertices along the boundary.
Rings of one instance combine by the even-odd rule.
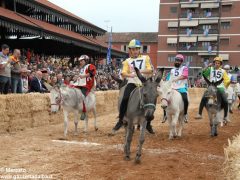
[[[137,86],[142,85],[142,82],[138,79],[135,73],[134,67],[137,67],[144,76],[152,76],[153,73],[150,57],[147,55],[140,54],[141,49],[140,41],[136,39],[131,40],[129,42],[128,48],[130,58],[126,59],[122,63],[123,68],[121,73],[122,77],[126,78],[128,82],[120,105],[119,120],[115,127],[113,128],[113,131],[119,130],[123,125],[123,118],[127,111],[127,104],[131,92]],[[149,133],[154,134],[150,122],[147,123],[146,129],[148,130]]]

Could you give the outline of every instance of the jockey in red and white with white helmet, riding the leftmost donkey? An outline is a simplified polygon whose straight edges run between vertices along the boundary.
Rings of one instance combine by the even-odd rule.
[[[80,87],[83,95],[86,97],[95,86],[96,67],[93,64],[89,64],[89,57],[87,55],[80,56],[78,60],[80,62],[78,86]],[[84,120],[85,117],[86,106],[83,101],[83,111],[80,119]]]

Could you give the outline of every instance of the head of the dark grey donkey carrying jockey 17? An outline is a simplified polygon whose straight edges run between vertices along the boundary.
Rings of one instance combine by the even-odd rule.
[[[147,121],[154,119],[154,112],[156,109],[156,102],[158,97],[157,87],[162,78],[162,72],[159,72],[155,79],[146,79],[142,76],[140,71],[135,67],[136,74],[141,80],[143,86],[141,88],[141,103],[144,109],[144,116]]]

